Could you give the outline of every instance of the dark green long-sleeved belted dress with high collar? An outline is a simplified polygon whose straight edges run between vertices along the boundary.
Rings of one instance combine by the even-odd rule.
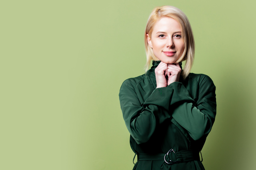
[[[138,158],[133,169],[204,169],[199,152],[215,120],[216,87],[209,76],[189,73],[185,80],[156,88],[160,62],[153,61],[146,74],[125,80],[120,88],[123,118]]]

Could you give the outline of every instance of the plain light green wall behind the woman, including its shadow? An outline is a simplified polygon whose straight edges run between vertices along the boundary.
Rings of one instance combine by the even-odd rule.
[[[0,169],[132,169],[122,82],[144,73],[155,6],[185,12],[191,72],[217,89],[202,150],[213,169],[255,169],[255,5],[252,1],[5,1],[0,3]]]

